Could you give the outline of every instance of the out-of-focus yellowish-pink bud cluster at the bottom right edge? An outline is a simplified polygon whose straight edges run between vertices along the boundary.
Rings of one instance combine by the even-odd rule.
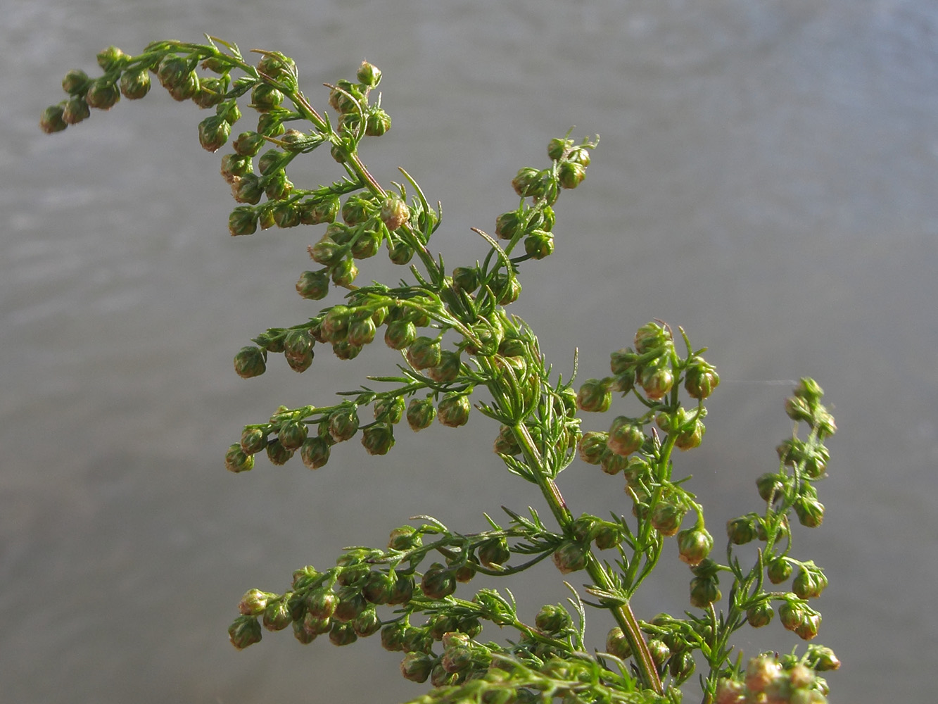
[[[827,682],[818,672],[835,670],[833,650],[809,647],[800,658],[763,653],[749,660],[740,680],[722,679],[714,704],[826,704]]]

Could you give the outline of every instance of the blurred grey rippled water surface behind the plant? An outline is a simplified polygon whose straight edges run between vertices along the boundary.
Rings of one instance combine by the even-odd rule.
[[[282,591],[295,568],[328,566],[344,545],[383,544],[416,513],[471,531],[501,504],[543,508],[500,467],[479,414],[464,432],[403,429],[380,461],[351,443],[315,473],[298,461],[224,470],[244,423],[281,403],[328,403],[395,358],[381,345],[353,362],[324,350],[304,375],[281,360],[257,379],[234,375],[251,336],[319,309],[293,290],[319,234],[228,236],[221,152],[198,147],[191,103],[157,87],[39,132],[66,70],[95,70],[110,44],[137,54],[203,32],[293,56],[321,107],[320,84],[352,77],[363,58],[383,69],[394,124],[365,160],[385,182],[404,166],[443,201],[431,249],[449,266],[484,253],[469,228],[492,231],[516,206],[509,181],[546,164],[550,138],[571,125],[578,138],[599,133],[586,182],[558,203],[556,253],[522,269],[512,312],[565,375],[576,345],[582,378],[604,375],[653,317],[710,348],[724,383],[703,447],[675,472],[694,474],[717,536],[756,508],[753,480],[776,467],[787,380],[817,378],[840,432],[819,487],[825,525],[797,530],[794,555],[830,579],[817,641],[844,663],[831,698],[933,694],[933,3],[6,0],[3,15],[4,701],[417,696],[376,638],[338,649],[267,634],[235,651],[226,628],[240,595]],[[320,153],[292,173],[304,186],[339,175]],[[369,262],[363,276],[400,274]],[[575,513],[628,511],[621,479],[596,467],[577,462],[560,483]],[[662,564],[636,600],[647,618],[687,607],[673,544]],[[529,619],[567,596],[541,567],[515,588]],[[609,623],[590,623],[599,645]],[[778,620],[739,636],[750,654],[795,640]]]

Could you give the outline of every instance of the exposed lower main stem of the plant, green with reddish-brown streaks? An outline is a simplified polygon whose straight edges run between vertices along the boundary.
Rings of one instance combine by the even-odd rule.
[[[557,519],[557,523],[560,524],[564,532],[567,532],[573,520],[572,514],[567,508],[567,502],[561,495],[560,489],[552,480],[547,468],[544,467],[544,459],[537,450],[534,438],[522,422],[516,423],[512,427],[512,431],[522,448],[522,453],[528,467],[531,468],[532,474],[537,479],[537,485],[540,487],[541,494],[543,494],[544,498],[547,500],[554,518]],[[606,591],[615,590],[612,579],[610,579],[609,574],[606,574],[605,569],[593,555],[592,551],[587,555],[586,573],[590,575],[590,578],[599,589]],[[615,622],[622,629],[623,634],[626,635],[628,645],[631,647],[635,657],[635,664],[639,670],[639,678],[643,685],[648,689],[654,690],[658,695],[663,696],[664,687],[661,685],[661,679],[658,677],[658,668],[652,660],[651,652],[649,652],[648,646],[644,641],[638,619],[636,619],[635,614],[632,613],[631,606],[628,605],[628,602],[625,602],[610,607],[610,611],[613,612]]]

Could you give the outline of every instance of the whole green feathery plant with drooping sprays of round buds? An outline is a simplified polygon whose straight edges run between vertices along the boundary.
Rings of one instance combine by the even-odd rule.
[[[705,349],[695,349],[678,328],[682,351],[674,330],[653,321],[638,329],[632,346],[612,352],[609,375],[577,388],[572,375],[553,373],[534,331],[507,312],[522,290],[522,265],[526,274],[554,252],[553,207],[562,191],[582,183],[598,140],[578,143],[569,133],[552,139],[548,165],[522,168],[511,181],[518,207],[495,218],[494,237],[477,230],[487,248],[481,261],[447,268],[428,248],[441,209],[431,207],[403,169],[404,183],[386,188],[359,157],[366,137],[391,126],[380,96],[371,99],[379,69],[364,63],[354,80],[328,86],[336,113],[330,117],[300,91],[289,57],[257,52],[250,65],[234,44],[208,41],[155,42],[139,55],[113,47],[98,54],[103,74],[69,71],[67,98],[43,112],[40,127],[64,130],[121,95],[143,98],[151,74],[174,99],[211,112],[199,123],[198,139],[213,152],[231,143],[220,169],[238,204],[231,234],[322,226],[309,248],[313,266],[300,274],[296,291],[310,301],[327,298],[330,288],[342,294],[306,320],[260,332],[235,355],[235,372],[263,375],[270,356],[282,355],[304,373],[323,346],[352,360],[376,339],[396,352],[398,370],[368,376],[367,386],[341,392],[335,403],[280,406],[244,428],[225,467],[250,470],[264,453],[282,465],[299,451],[302,464],[318,469],[335,461],[336,445],[356,436],[365,451],[386,454],[402,420],[414,431],[434,419],[459,427],[476,408],[497,423],[495,455],[537,487],[551,514],[545,520],[534,509],[506,509],[504,525],[486,515],[488,528],[476,532],[424,516],[392,530],[383,547],[348,548],[333,566],[297,570],[281,593],[250,589],[229,629],[235,648],[260,641],[264,630],[289,628],[303,644],[327,635],[337,646],[380,634],[386,650],[403,653],[403,677],[431,682],[431,692],[413,700],[428,704],[677,702],[696,663],[706,666],[699,680],[703,702],[824,702],[827,686],[818,673],[840,665],[829,649],[809,646],[801,656],[780,658],[766,653],[743,665],[731,642],[736,630],[767,625],[776,611],[784,628],[806,640],[817,635],[821,616],[810,600],[827,577],[812,560],[794,557],[791,517],[809,528],[824,519],[816,484],[828,461],[824,441],[836,426],[820,387],[802,379],[787,400],[794,433],[779,444],[776,470],[758,478],[755,509],[727,522],[726,555],[718,561],[703,507],[688,491],[688,478],[674,475],[675,448],[701,444],[703,404],[719,387]],[[243,119],[239,104],[257,120],[235,134]],[[291,162],[322,146],[340,177],[327,186],[295,185],[287,176]],[[407,267],[401,281],[357,284],[359,263],[382,250]],[[616,394],[631,403],[632,415],[620,413],[584,432],[581,413],[608,413]],[[799,425],[807,427],[804,437]],[[596,481],[624,476],[629,515],[571,512],[557,480],[578,458],[601,468]],[[670,538],[690,571],[688,603],[678,605],[681,616],[640,620],[631,599]],[[760,543],[757,557],[744,565],[736,546],[753,541]],[[522,620],[509,589],[467,586],[476,574],[509,577],[545,559],[561,574],[584,573],[589,586],[582,595],[570,588],[567,605],[545,605],[533,620]],[[789,589],[780,587],[789,579]],[[605,640],[587,639],[586,606],[611,612],[617,625]],[[486,624],[509,636],[483,640]]]

